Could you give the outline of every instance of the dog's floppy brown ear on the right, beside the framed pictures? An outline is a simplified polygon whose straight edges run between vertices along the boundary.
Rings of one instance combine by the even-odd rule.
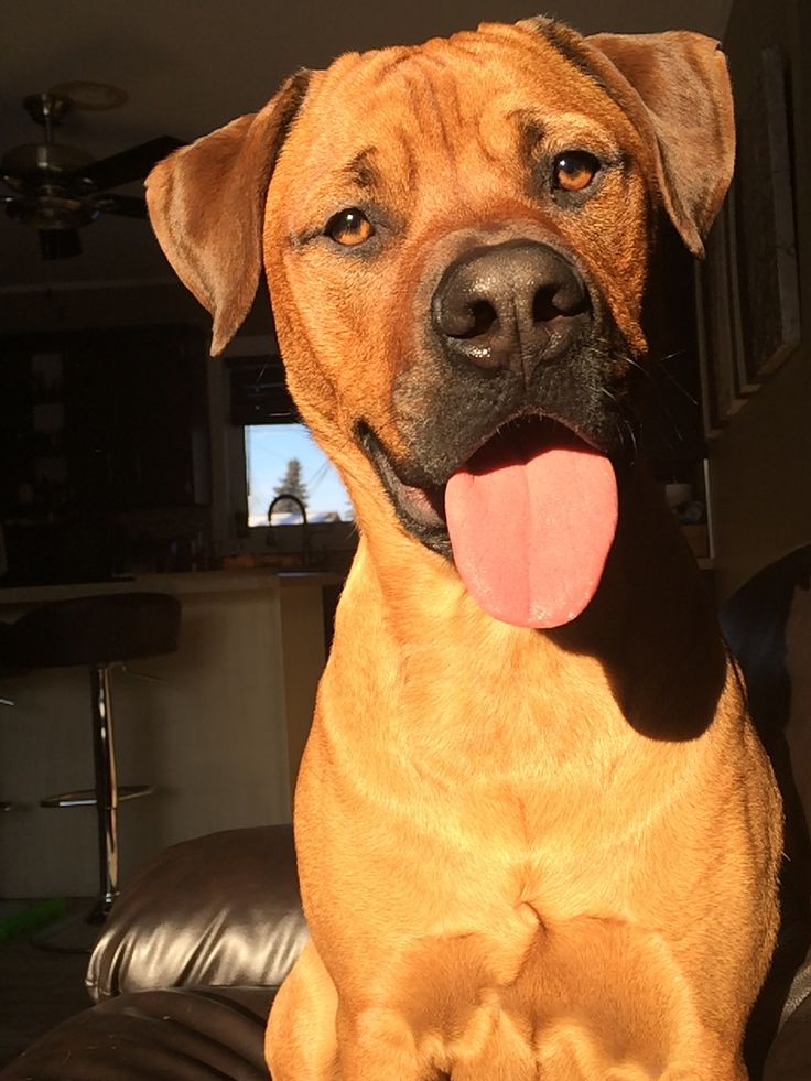
[[[641,100],[657,143],[664,207],[686,247],[703,255],[702,240],[735,166],[732,88],[718,42],[688,31],[584,41],[595,60],[610,63],[609,89],[619,77]]]

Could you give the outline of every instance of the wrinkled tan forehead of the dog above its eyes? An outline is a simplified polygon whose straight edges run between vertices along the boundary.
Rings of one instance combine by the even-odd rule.
[[[280,165],[294,158],[300,183],[340,175],[364,186],[382,159],[406,177],[463,169],[466,156],[495,166],[522,141],[612,152],[624,132],[632,137],[576,42],[493,24],[347,54],[316,73]]]

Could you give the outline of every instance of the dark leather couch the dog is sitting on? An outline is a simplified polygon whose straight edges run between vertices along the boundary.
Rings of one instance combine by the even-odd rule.
[[[787,636],[796,598],[811,603],[810,582],[811,547],[756,575],[722,618],[789,818],[780,942],[748,1038],[753,1081],[811,1081],[811,792],[793,785],[786,738],[811,724],[811,701],[792,699],[789,671],[790,653],[804,666],[811,658],[808,607],[807,639],[789,648]],[[96,1005],[46,1034],[0,1081],[267,1081],[266,1018],[306,934],[289,826],[175,845],[113,906],[87,972]]]

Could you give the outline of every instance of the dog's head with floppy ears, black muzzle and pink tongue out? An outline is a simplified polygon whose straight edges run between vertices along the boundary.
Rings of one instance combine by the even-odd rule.
[[[360,528],[453,558],[500,618],[552,626],[588,603],[614,536],[656,215],[701,252],[732,117],[724,58],[698,34],[485,24],[300,73],[162,162],[148,201],[213,352],[264,264],[291,391]],[[527,618],[488,599],[500,526],[474,519],[495,508],[529,550],[571,491],[556,559],[577,549],[577,596],[538,615],[521,588]]]

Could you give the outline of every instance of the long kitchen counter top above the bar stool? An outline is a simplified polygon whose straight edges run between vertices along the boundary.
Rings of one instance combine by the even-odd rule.
[[[342,577],[327,571],[280,572],[262,567],[228,571],[188,571],[173,574],[140,574],[111,582],[77,582],[69,585],[21,585],[0,588],[0,605],[44,604],[73,597],[106,593],[171,593],[212,595],[249,593],[257,590],[295,590],[305,586],[339,585]]]

